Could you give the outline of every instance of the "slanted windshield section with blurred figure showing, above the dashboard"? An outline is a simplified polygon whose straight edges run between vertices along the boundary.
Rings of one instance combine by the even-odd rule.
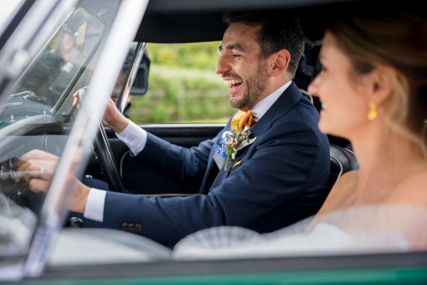
[[[60,97],[73,78],[90,68],[88,59],[100,40],[103,26],[85,9],[77,9],[16,83],[14,97],[35,100],[48,108],[60,104]]]

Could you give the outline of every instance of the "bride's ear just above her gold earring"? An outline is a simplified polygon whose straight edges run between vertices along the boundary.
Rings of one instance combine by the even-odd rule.
[[[390,66],[380,66],[369,75],[371,82],[369,86],[369,100],[376,105],[382,105],[393,93],[394,81],[397,79],[396,69]]]

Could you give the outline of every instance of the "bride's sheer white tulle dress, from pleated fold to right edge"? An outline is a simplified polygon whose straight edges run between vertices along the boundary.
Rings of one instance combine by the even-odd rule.
[[[182,239],[176,259],[406,252],[426,248],[427,209],[363,206],[305,219],[269,234],[241,227],[204,229]]]

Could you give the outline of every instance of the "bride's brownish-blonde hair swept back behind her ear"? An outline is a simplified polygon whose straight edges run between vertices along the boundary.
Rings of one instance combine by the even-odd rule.
[[[408,14],[352,16],[327,26],[356,74],[381,66],[396,69],[384,110],[389,127],[427,157],[427,21]]]

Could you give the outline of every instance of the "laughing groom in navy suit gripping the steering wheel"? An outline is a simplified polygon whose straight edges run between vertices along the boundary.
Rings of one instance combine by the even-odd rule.
[[[320,209],[328,193],[329,142],[317,129],[317,110],[292,83],[304,48],[299,22],[283,14],[227,14],[226,22],[216,73],[228,84],[231,106],[251,110],[257,123],[249,138],[255,141],[226,169],[214,161],[214,146],[231,120],[216,138],[184,148],[138,128],[110,102],[104,121],[135,160],[182,179],[203,177],[200,192],[164,199],[79,183],[71,210],[102,227],[173,245],[187,234],[221,225],[271,232]]]

